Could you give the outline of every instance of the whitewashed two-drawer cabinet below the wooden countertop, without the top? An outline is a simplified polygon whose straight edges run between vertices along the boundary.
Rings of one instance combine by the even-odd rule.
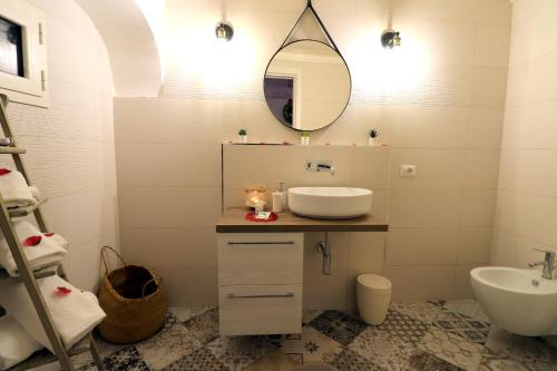
[[[302,331],[303,233],[218,233],[221,335]]]

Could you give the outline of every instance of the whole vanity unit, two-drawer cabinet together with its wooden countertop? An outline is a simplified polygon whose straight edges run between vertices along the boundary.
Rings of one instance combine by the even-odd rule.
[[[312,219],[284,212],[273,223],[254,223],[245,213],[229,209],[216,224],[222,335],[302,332],[304,233],[389,230],[372,215]]]

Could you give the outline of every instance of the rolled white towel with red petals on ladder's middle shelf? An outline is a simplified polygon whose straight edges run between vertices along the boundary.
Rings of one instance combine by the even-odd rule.
[[[29,222],[16,222],[13,228],[18,234],[19,241],[23,246],[23,253],[29,262],[29,267],[31,270],[40,270],[42,267],[55,265],[61,263],[63,256],[68,253],[63,248],[60,242],[66,242],[61,236],[55,238],[56,234],[51,237],[47,237],[35,225]],[[67,245],[67,242],[66,242]],[[19,275],[18,266],[16,261],[11,255],[11,251],[8,247],[8,242],[6,241],[3,234],[0,233],[0,265],[2,265],[9,275],[17,277]]]

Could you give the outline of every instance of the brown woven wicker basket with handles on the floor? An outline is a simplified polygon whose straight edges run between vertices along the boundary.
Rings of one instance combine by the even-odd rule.
[[[118,256],[121,267],[109,271],[107,250]],[[163,326],[166,318],[162,279],[148,267],[127,265],[110,246],[102,247],[100,257],[106,274],[100,284],[99,304],[107,314],[98,328],[101,336],[117,344],[149,338]]]

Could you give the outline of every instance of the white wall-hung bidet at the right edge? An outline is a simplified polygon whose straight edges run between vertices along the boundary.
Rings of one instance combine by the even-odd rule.
[[[492,323],[520,335],[557,334],[557,280],[539,270],[482,266],[470,272],[476,299]]]

